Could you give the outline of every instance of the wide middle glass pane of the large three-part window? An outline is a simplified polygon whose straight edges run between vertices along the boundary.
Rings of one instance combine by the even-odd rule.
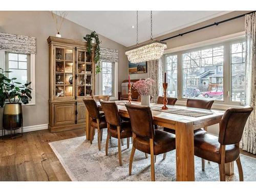
[[[209,91],[223,89],[223,46],[182,54],[182,97],[223,100],[223,94]]]

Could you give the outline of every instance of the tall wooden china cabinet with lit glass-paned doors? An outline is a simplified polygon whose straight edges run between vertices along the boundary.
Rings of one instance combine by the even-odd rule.
[[[93,45],[50,36],[49,44],[49,125],[51,132],[84,128],[86,106],[83,97],[92,97],[95,84]]]

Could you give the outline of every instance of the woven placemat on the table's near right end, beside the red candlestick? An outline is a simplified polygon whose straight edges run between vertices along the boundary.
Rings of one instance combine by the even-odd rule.
[[[165,112],[165,113],[173,113],[173,114],[177,114],[177,115],[185,115],[185,116],[190,116],[190,117],[201,117],[201,116],[212,114],[211,112],[205,112],[205,111],[194,111],[194,110],[180,109],[180,108],[176,108],[175,106],[169,107],[169,109],[167,109],[167,110],[162,110],[162,106],[152,106],[151,110]]]

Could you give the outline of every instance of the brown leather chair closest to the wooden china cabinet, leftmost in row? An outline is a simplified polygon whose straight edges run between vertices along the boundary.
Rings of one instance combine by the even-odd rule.
[[[90,141],[91,144],[94,139],[95,130],[98,130],[98,147],[99,151],[101,150],[101,141],[102,141],[102,129],[106,128],[106,119],[103,113],[99,113],[98,105],[94,99],[83,98],[83,102],[86,105],[87,111],[91,120],[91,135]]]

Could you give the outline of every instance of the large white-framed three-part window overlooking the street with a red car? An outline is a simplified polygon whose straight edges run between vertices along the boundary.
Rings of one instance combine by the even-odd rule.
[[[170,97],[215,100],[223,104],[244,102],[244,37],[165,54],[164,69]]]

